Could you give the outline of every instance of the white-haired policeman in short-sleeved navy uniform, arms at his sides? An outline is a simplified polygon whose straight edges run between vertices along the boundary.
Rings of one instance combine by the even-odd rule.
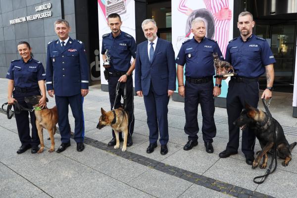
[[[202,112],[202,137],[205,149],[213,152],[213,138],[216,135],[214,123],[214,98],[221,93],[222,79],[216,79],[213,86],[213,53],[218,53],[223,59],[218,44],[205,37],[206,28],[203,20],[197,18],[192,21],[193,39],[183,43],[176,57],[178,93],[185,97],[186,124],[185,133],[188,134],[188,142],[184,150],[190,150],[198,145],[198,103]],[[184,65],[186,64],[186,82],[184,84]]]

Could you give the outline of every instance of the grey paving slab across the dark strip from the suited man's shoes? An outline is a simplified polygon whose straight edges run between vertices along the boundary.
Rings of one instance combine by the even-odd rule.
[[[158,198],[177,198],[192,183],[151,169],[129,182],[128,185]]]

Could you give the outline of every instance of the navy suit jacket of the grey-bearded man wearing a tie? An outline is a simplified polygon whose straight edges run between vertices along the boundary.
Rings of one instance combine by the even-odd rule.
[[[137,46],[135,63],[135,91],[147,96],[150,82],[157,95],[175,91],[176,64],[172,44],[158,38],[153,59],[148,57],[148,41]]]

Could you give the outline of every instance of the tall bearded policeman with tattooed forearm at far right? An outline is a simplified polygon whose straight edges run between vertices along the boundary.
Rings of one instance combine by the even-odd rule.
[[[275,59],[267,41],[252,34],[254,27],[252,14],[247,11],[240,13],[237,27],[241,35],[230,41],[226,52],[226,60],[232,64],[238,76],[232,77],[229,81],[227,94],[229,142],[226,150],[219,154],[222,158],[238,153],[239,128],[233,122],[245,108],[245,102],[257,107],[259,100],[258,79],[265,73],[265,70],[267,88],[261,98],[271,98],[273,89]],[[242,151],[249,165],[254,160],[254,145],[254,133],[248,129],[244,130]]]

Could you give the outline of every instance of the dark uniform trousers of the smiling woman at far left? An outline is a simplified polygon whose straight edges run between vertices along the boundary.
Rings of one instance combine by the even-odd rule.
[[[36,90],[33,92],[27,92],[27,93],[13,91],[13,98],[16,99],[20,105],[29,109],[33,108],[32,104],[26,103],[24,98],[29,96],[34,96],[34,95],[40,95],[40,91]],[[13,108],[15,109],[15,107]],[[30,113],[30,120],[32,125],[31,136],[30,136],[29,117],[28,117],[29,113]],[[21,144],[24,146],[26,145],[38,146],[40,144],[40,141],[38,137],[38,131],[36,128],[36,117],[35,117],[34,111],[33,112],[20,111],[19,114],[15,113],[14,115],[15,115],[17,131],[18,131]]]

